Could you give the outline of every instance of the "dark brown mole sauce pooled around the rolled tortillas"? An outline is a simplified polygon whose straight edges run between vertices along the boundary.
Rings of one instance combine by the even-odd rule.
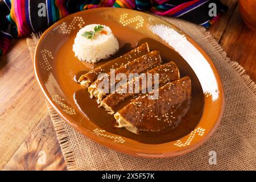
[[[189,67],[187,62],[179,55],[179,53],[150,38],[140,40],[138,45],[141,45],[145,42],[148,43],[151,50],[158,50],[160,52],[163,63],[174,61],[179,68],[180,77],[189,76],[191,78],[192,100],[190,109],[188,110],[188,113],[181,119],[179,125],[177,125],[174,129],[170,127],[169,129],[159,132],[142,132],[140,134],[134,134],[130,131],[127,131],[126,129],[119,129],[114,127],[116,125],[116,121],[113,115],[108,114],[103,107],[98,107],[96,99],[90,99],[87,89],[78,90],[74,94],[73,98],[81,113],[84,114],[84,116],[88,118],[89,121],[110,133],[134,139],[141,143],[158,144],[174,141],[184,137],[184,135],[189,134],[199,123],[204,109],[203,90],[201,89],[200,82],[195,73]],[[131,47],[127,49],[123,47],[121,53],[118,51],[118,55],[120,56],[123,53],[130,51],[131,49]],[[130,102],[131,98],[132,97],[127,98],[125,101],[121,102],[121,104],[119,104],[115,110],[121,109],[123,106]],[[187,107],[187,102],[183,102],[183,104],[179,107],[178,112],[182,113],[183,110]]]

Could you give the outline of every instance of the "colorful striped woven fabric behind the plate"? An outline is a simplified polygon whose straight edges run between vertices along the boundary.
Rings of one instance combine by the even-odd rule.
[[[217,16],[209,16],[210,3],[216,4]],[[216,22],[221,13],[228,9],[219,0],[0,0],[0,55],[7,52],[13,37],[44,31],[69,14],[97,7],[151,11],[156,15],[174,16],[204,27]]]

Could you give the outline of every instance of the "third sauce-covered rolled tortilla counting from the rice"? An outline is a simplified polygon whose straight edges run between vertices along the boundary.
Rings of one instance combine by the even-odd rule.
[[[175,81],[180,78],[179,69],[177,68],[177,65],[172,61],[166,64],[159,65],[158,67],[155,67],[146,73],[151,73],[152,75],[158,73],[159,86],[163,86],[167,82]],[[119,102],[125,100],[125,98],[127,97],[136,95],[136,93],[129,93],[127,90],[127,88],[129,88],[129,85],[133,85],[133,90],[135,90],[135,79],[136,78],[134,78],[130,82],[127,82],[127,84],[121,86],[120,89],[115,90],[115,93],[108,94],[108,96],[106,96],[104,100],[101,101],[100,106],[103,106],[107,111],[109,111],[109,114],[114,114],[114,107],[117,106]],[[141,92],[142,90],[146,90],[147,85],[142,85],[142,78],[139,79],[139,92]],[[152,85],[154,84],[155,80],[154,76],[152,76]],[[144,88],[145,86],[146,88]]]

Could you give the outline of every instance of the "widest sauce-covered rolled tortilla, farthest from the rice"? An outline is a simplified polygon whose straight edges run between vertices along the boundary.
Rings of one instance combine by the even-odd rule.
[[[159,88],[158,100],[140,96],[114,114],[114,117],[118,127],[125,127],[137,134],[139,131],[161,131],[167,127],[174,129],[187,114],[190,101],[191,80],[186,76]]]

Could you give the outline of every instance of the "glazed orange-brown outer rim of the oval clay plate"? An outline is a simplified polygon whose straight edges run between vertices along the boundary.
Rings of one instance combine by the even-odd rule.
[[[175,31],[179,32],[179,34],[185,35],[187,40],[194,46],[196,49],[203,55],[205,60],[207,60],[208,64],[210,65],[210,68],[213,71],[214,78],[216,79],[217,82],[217,88],[218,88],[218,99],[216,100],[216,103],[219,107],[217,113],[213,113],[214,115],[214,121],[213,126],[209,129],[209,131],[203,136],[200,137],[200,139],[197,140],[197,142],[190,144],[189,146],[185,147],[177,147],[174,149],[174,143],[177,141],[173,142],[167,142],[163,144],[141,144],[141,143],[131,143],[131,144],[123,144],[123,143],[117,143],[113,142],[113,140],[109,140],[108,138],[101,137],[95,133],[93,133],[92,130],[85,129],[84,127],[81,128],[76,125],[76,123],[73,121],[73,118],[65,113],[61,107],[56,104],[55,101],[53,101],[51,94],[49,94],[48,90],[46,89],[46,86],[44,85],[43,78],[39,74],[39,56],[40,56],[40,50],[39,46],[42,44],[43,40],[47,37],[49,32],[53,30],[56,26],[59,26],[61,23],[65,22],[66,20],[70,19],[71,17],[74,16],[79,16],[87,13],[101,13],[103,11],[112,11],[112,7],[104,7],[104,8],[97,8],[97,9],[90,9],[86,11],[79,11],[75,14],[71,14],[66,16],[65,18],[59,20],[58,22],[54,23],[51,27],[49,27],[46,31],[44,31],[43,35],[40,37],[39,42],[36,46],[35,49],[35,56],[34,56],[34,72],[36,76],[36,80],[38,81],[38,84],[40,86],[40,89],[44,93],[44,96],[47,98],[47,101],[53,109],[57,111],[57,114],[60,115],[61,118],[64,119],[65,122],[67,122],[69,125],[71,125],[73,128],[75,128],[77,131],[79,131],[81,134],[85,135],[86,137],[92,139],[94,142],[100,143],[101,145],[105,147],[112,148],[113,150],[123,152],[125,154],[129,155],[134,155],[134,156],[143,156],[146,158],[170,158],[174,156],[179,156],[183,154],[187,154],[188,152],[191,152],[192,150],[195,150],[195,148],[201,146],[207,139],[209,139],[210,135],[214,133],[214,131],[217,129],[218,124],[220,123],[223,111],[224,111],[224,90],[222,87],[222,82],[220,79],[220,76],[218,75],[217,69],[215,68],[213,61],[210,59],[210,57],[207,55],[207,53],[192,39],[190,38],[187,34],[185,34],[183,31],[181,31],[179,28],[174,26],[173,24],[166,22],[165,20],[162,20],[160,18],[157,18],[156,16],[142,13],[141,11],[134,11],[134,10],[128,10],[128,9],[115,9],[115,11],[122,11],[122,13],[128,13],[128,14],[136,14],[136,15],[141,15],[143,17],[151,18],[154,19],[155,21],[159,23],[163,23],[166,26],[170,26],[173,28]],[[210,106],[209,106],[210,107]],[[209,119],[209,118],[208,118]],[[201,122],[201,121],[200,121]],[[200,125],[200,123],[199,123]],[[188,134],[189,135],[189,134]],[[181,138],[182,139],[187,139],[188,135]],[[139,146],[140,148],[138,148]],[[156,149],[157,148],[157,149]]]

